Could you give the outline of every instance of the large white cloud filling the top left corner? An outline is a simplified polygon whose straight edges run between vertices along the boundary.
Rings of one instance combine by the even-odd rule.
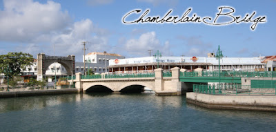
[[[70,23],[68,12],[53,1],[4,0],[0,10],[0,40],[32,41],[40,35],[63,29]]]

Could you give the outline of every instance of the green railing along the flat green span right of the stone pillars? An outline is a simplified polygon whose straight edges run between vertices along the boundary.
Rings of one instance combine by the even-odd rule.
[[[221,77],[276,77],[275,71],[265,72],[221,72]],[[219,77],[218,71],[181,72],[180,77]]]

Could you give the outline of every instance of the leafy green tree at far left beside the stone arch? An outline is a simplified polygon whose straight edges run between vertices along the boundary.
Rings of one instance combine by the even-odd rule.
[[[34,58],[28,53],[0,55],[0,73],[14,77],[21,73],[21,69],[25,70],[26,66],[30,66],[33,62]]]

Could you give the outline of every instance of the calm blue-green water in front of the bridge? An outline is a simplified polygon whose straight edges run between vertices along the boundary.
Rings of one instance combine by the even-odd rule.
[[[276,113],[210,110],[154,94],[17,97],[0,99],[0,131],[276,131]]]

